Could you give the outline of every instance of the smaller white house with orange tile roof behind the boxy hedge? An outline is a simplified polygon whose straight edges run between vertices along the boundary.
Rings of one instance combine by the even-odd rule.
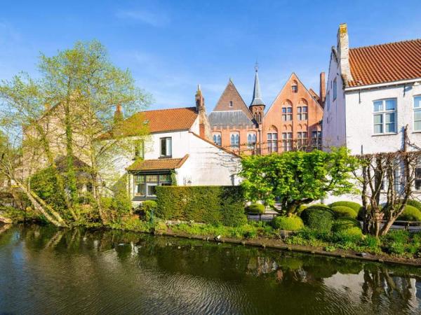
[[[132,200],[154,199],[155,187],[238,185],[240,159],[211,140],[204,99],[200,89],[196,106],[136,113],[131,118],[147,123],[149,135],[131,137],[133,157],[117,159],[128,172]]]

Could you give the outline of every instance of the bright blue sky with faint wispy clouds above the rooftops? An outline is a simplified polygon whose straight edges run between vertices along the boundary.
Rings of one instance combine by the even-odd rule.
[[[36,75],[39,52],[100,40],[154,97],[151,109],[193,106],[201,84],[213,109],[231,77],[249,103],[254,64],[272,103],[291,72],[319,91],[338,25],[351,47],[421,37],[421,1],[1,0],[0,78]]]

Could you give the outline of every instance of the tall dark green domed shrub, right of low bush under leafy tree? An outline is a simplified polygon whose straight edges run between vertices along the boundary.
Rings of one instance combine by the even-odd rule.
[[[302,211],[302,221],[310,229],[318,232],[330,232],[334,213],[324,205],[313,205]]]

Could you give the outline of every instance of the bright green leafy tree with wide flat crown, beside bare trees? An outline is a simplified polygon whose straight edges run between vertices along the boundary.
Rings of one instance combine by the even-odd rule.
[[[241,160],[242,186],[246,199],[273,205],[294,214],[302,204],[354,191],[352,172],[358,162],[347,149],[330,153],[315,150],[271,155],[251,155]]]

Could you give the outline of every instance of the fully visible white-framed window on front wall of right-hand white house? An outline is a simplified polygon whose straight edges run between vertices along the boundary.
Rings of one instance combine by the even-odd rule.
[[[396,99],[373,102],[373,126],[375,134],[396,132]]]

